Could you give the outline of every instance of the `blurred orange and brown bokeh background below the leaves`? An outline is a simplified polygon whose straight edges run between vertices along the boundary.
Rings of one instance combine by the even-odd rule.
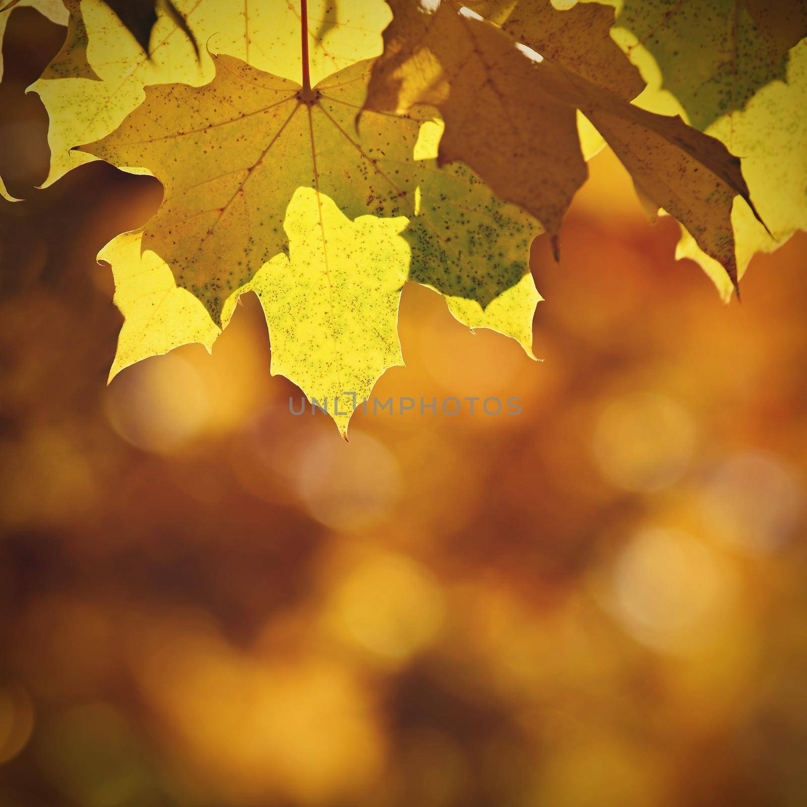
[[[609,153],[530,362],[418,286],[377,395],[517,417],[293,417],[257,299],[106,386],[98,250],[161,199],[49,190],[6,33],[2,807],[807,804],[807,236],[723,306]]]

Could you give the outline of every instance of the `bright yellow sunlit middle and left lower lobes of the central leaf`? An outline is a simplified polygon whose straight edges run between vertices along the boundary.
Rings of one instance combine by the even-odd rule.
[[[399,237],[406,226],[405,218],[372,215],[352,222],[331,199],[299,188],[284,222],[288,255],[268,261],[224,307],[226,325],[238,296],[257,294],[272,340],[272,374],[290,378],[323,405],[342,435],[355,403],[370,395],[384,370],[403,365],[397,319],[410,261]],[[199,342],[211,350],[221,332],[161,257],[141,255],[143,232],[123,233],[98,255],[111,265],[124,316],[110,380],[179,345]]]

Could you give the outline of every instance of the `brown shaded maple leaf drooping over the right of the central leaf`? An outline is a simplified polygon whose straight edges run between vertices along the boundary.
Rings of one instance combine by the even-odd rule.
[[[642,196],[684,224],[736,282],[731,210],[735,196],[748,199],[738,159],[681,119],[641,110],[589,81],[570,55],[582,58],[585,28],[576,39],[567,33],[564,60],[572,65],[567,68],[530,59],[506,32],[473,19],[453,0],[433,12],[412,0],[390,5],[393,21],[384,31],[384,53],[374,66],[366,108],[436,106],[446,127],[441,165],[470,165],[500,198],[529,211],[552,236],[587,176],[575,132],[576,111],[582,111]],[[511,18],[516,11],[523,15],[522,31],[532,30],[525,20],[533,12],[547,13],[540,0],[516,3]],[[557,42],[553,47],[562,49]],[[616,48],[611,52],[625,61]]]

